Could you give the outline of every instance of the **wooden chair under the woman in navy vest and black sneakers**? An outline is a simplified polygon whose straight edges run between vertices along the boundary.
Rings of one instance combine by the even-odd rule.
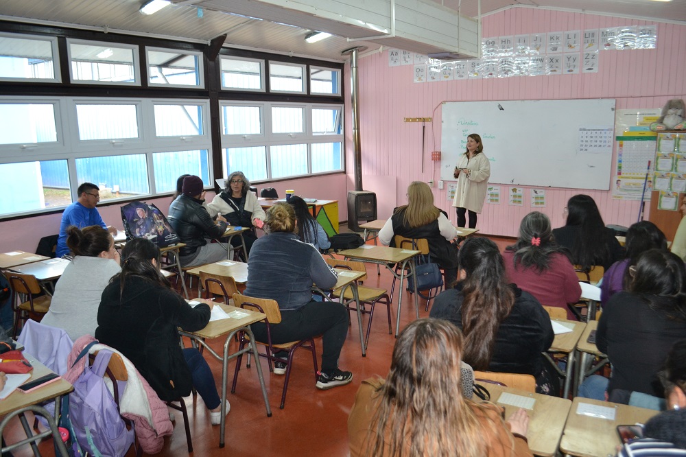
[[[262,358],[267,359],[267,364],[269,366],[269,371],[273,372],[274,368],[272,366],[272,362],[283,362],[283,359],[274,357],[274,353],[280,352],[280,351],[288,351],[288,358],[285,362],[286,364],[286,373],[285,373],[285,379],[283,382],[283,391],[281,392],[281,408],[283,410],[283,405],[285,404],[286,401],[286,390],[288,388],[288,379],[291,376],[291,368],[293,367],[293,353],[296,351],[296,349],[307,349],[308,351],[311,351],[312,353],[312,362],[314,364],[314,379],[316,381],[317,379],[317,371],[319,371],[318,365],[317,365],[317,350],[314,345],[314,338],[306,338],[305,340],[299,340],[299,341],[292,341],[292,342],[287,342],[287,343],[282,343],[282,344],[274,344],[272,343],[272,335],[271,335],[271,330],[270,326],[271,325],[276,325],[281,322],[281,310],[279,309],[279,304],[276,303],[275,300],[268,300],[267,298],[255,298],[252,296],[247,296],[247,295],[241,295],[241,294],[233,294],[233,303],[237,307],[241,307],[244,309],[252,309],[252,311],[257,311],[261,312],[267,315],[267,317],[264,319],[264,322],[267,324],[267,341],[262,342],[262,341],[257,341],[257,344],[261,344],[262,346],[265,347],[265,353],[261,353],[259,356]],[[240,332],[239,336],[239,351],[244,349],[246,347],[246,344],[250,344],[250,339],[248,338],[248,333],[245,331]],[[236,362],[236,371],[233,375],[233,384],[231,384],[231,393],[236,392],[236,383],[238,382],[238,371],[241,369],[241,360],[243,358],[243,354],[238,356],[238,360]],[[259,363],[259,360],[256,361]],[[248,368],[250,368],[250,359],[248,359],[248,364],[246,365]]]

